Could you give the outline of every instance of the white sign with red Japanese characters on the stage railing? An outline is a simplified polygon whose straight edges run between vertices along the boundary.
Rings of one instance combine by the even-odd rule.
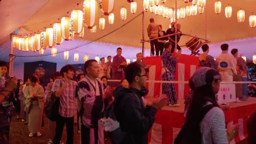
[[[219,104],[235,102],[235,84],[220,84],[219,93],[215,98]]]

